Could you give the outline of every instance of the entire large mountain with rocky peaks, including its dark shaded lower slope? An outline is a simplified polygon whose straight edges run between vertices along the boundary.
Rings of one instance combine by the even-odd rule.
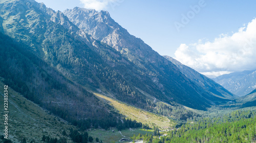
[[[226,101],[221,95],[215,96],[188,79],[172,62],[118,25],[108,12],[81,8],[68,10],[70,16],[78,13],[74,17],[87,20],[78,25],[68,11],[64,14],[55,12],[33,0],[1,1],[0,10],[2,32],[24,45],[18,52],[21,52],[20,56],[27,53],[30,61],[25,67],[14,67],[14,71],[24,70],[19,75],[23,79],[18,85],[11,76],[5,78],[27,98],[55,110],[55,113],[60,113],[59,107],[65,109],[66,104],[75,105],[75,112],[72,112],[73,106],[65,112],[74,115],[70,120],[97,116],[107,119],[104,115],[109,108],[91,91],[146,110],[154,109],[157,101],[177,102],[202,110]],[[25,72],[31,66],[35,68]],[[15,80],[19,80],[16,76]],[[33,80],[33,76],[39,79]],[[83,101],[88,105],[79,106]],[[89,104],[99,107],[100,112],[90,108]]]

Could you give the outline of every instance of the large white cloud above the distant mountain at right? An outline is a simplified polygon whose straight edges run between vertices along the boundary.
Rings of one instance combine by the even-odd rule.
[[[231,36],[221,34],[214,41],[181,44],[178,61],[195,70],[217,75],[225,72],[256,69],[256,18]]]

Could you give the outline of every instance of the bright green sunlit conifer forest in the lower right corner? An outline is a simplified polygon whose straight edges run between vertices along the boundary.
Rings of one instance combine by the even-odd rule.
[[[169,131],[166,136],[147,134],[141,138],[145,142],[255,142],[256,109],[199,118]]]

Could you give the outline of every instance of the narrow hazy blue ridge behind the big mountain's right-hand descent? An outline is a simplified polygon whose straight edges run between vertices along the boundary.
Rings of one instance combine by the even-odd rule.
[[[200,74],[194,69],[181,64],[179,61],[173,59],[170,56],[164,55],[164,58],[174,63],[187,78],[197,84],[199,87],[203,88],[205,91],[211,92],[216,96],[221,98],[232,98],[234,97],[229,91],[224,89],[220,84],[216,83],[214,80]]]

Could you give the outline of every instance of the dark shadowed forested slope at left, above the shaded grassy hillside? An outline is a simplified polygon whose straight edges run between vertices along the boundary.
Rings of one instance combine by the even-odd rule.
[[[0,45],[0,76],[16,92],[70,122],[109,117],[111,108],[37,58],[26,45],[1,32]]]

